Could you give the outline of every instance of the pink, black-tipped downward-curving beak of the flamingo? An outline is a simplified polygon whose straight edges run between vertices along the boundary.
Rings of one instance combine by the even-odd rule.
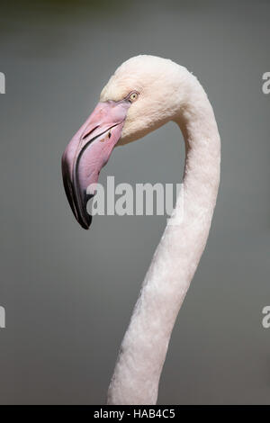
[[[67,200],[84,229],[89,229],[92,220],[86,211],[87,202],[94,196],[94,184],[98,181],[99,173],[121,138],[129,107],[128,100],[98,103],[62,156]]]

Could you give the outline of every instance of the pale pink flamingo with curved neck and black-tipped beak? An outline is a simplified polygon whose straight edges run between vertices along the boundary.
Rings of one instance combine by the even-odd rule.
[[[140,55],[117,68],[62,157],[67,199],[88,229],[86,203],[112,149],[175,121],[185,144],[183,194],[157,246],[121,343],[108,404],[156,404],[184,296],[205,247],[220,183],[220,135],[207,94],[185,67]],[[166,141],[167,142],[167,141]],[[92,188],[87,190],[87,187]],[[177,221],[177,217],[181,219]],[[170,224],[176,219],[175,224]]]

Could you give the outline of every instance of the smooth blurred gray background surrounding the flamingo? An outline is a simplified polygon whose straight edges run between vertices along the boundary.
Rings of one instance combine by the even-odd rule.
[[[1,4],[0,402],[102,404],[166,217],[74,220],[60,157],[122,61],[171,58],[205,87],[220,128],[211,236],[175,323],[160,404],[270,403],[270,4]],[[101,181],[181,181],[170,123],[117,148]]]

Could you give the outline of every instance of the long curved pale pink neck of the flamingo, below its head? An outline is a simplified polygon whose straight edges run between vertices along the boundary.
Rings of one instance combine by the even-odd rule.
[[[187,98],[175,118],[185,141],[183,190],[122,340],[108,404],[156,403],[175,319],[208,238],[220,182],[220,136],[207,95],[191,75]]]

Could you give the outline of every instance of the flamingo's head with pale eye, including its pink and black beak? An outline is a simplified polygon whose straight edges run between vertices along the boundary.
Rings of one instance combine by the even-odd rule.
[[[62,156],[67,199],[82,228],[91,224],[86,205],[112,149],[175,119],[184,97],[183,70],[171,60],[142,55],[124,62],[104,86],[94,112]]]

